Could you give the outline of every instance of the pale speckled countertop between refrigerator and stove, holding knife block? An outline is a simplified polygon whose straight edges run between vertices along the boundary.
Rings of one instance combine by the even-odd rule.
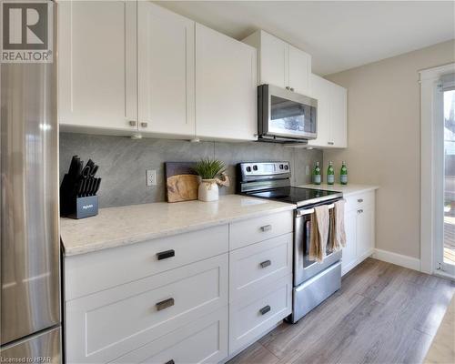
[[[214,202],[108,207],[100,208],[96,217],[62,217],[60,236],[65,255],[74,256],[294,208],[292,204],[239,195],[221,196]]]

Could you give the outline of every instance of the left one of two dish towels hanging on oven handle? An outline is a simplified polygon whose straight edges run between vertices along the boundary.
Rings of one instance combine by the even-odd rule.
[[[329,238],[329,207],[314,207],[311,215],[308,258],[321,263],[326,258],[326,246]]]

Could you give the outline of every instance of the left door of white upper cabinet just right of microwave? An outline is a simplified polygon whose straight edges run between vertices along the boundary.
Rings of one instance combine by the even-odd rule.
[[[308,140],[308,146],[328,147],[330,128],[330,89],[329,81],[317,75],[311,75],[311,95],[318,100],[318,137]]]

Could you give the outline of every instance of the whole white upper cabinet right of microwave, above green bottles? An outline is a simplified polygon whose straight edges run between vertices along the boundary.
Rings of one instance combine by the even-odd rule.
[[[312,75],[311,96],[318,99],[318,138],[308,140],[312,147],[348,147],[348,90]]]

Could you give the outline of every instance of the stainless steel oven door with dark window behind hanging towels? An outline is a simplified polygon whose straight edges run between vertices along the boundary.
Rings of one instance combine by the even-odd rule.
[[[322,263],[308,258],[309,237],[311,234],[311,215],[314,208],[299,209],[296,212],[294,231],[294,286],[297,287],[309,278],[319,274],[332,264],[341,259],[341,250],[330,252],[326,250],[327,257]],[[334,208],[329,207],[329,214],[334,213]],[[329,231],[329,238],[332,231]]]

